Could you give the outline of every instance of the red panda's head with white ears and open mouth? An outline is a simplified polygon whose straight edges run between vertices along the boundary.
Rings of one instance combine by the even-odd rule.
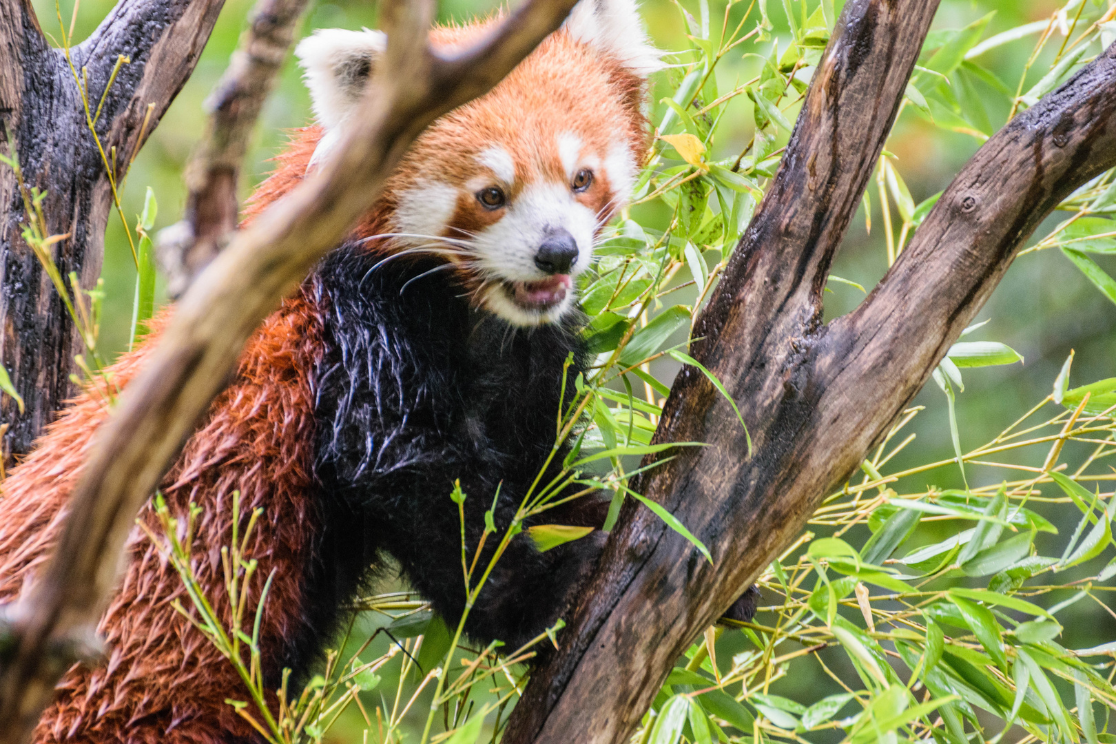
[[[431,37],[465,45],[493,22]],[[384,46],[367,29],[319,30],[299,44],[320,125],[309,167],[329,157]],[[488,95],[415,141],[365,223],[366,244],[443,257],[475,306],[511,323],[558,320],[628,197],[647,146],[646,77],[660,67],[635,0],[581,0]]]

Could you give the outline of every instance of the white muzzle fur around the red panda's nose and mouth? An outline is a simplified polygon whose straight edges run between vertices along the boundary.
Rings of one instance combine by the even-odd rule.
[[[488,282],[483,302],[517,326],[537,326],[558,320],[574,303],[573,292],[546,310],[520,307],[508,293],[509,282],[538,282],[550,277],[535,263],[548,232],[566,230],[577,243],[578,255],[569,269],[576,276],[588,268],[597,220],[579,203],[565,183],[538,183],[523,190],[499,222],[481,230],[472,242],[478,269]]]

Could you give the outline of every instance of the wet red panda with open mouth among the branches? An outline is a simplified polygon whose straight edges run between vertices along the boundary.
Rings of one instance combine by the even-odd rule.
[[[493,21],[432,31],[468,44]],[[376,31],[323,30],[297,54],[317,126],[300,131],[247,219],[330,156],[383,50]],[[554,445],[564,365],[586,365],[574,278],[624,203],[647,147],[647,74],[661,66],[634,0],[581,0],[566,25],[484,97],[435,122],[353,234],[252,336],[161,491],[200,509],[193,567],[228,616],[219,548],[263,509],[248,553],[275,572],[263,673],[305,673],[378,557],[451,624],[461,617],[460,480],[466,541],[499,494],[498,526]],[[158,326],[152,337],[157,338]],[[110,370],[127,385],[153,340]],[[107,405],[93,392],[58,417],[3,482],[0,602],[35,581]],[[560,456],[559,456],[560,462]],[[155,529],[150,508],[140,519]],[[547,521],[599,526],[600,502]],[[241,525],[243,526],[243,525]],[[552,624],[593,568],[599,530],[546,553],[526,534],[498,563],[468,634],[514,648]],[[259,599],[262,580],[251,588]],[[135,529],[99,625],[107,660],[75,666],[35,741],[256,741],[224,703],[240,680],[172,607],[184,590]]]

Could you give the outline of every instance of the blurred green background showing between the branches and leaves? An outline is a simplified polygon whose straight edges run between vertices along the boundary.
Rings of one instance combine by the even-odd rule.
[[[1091,3],[1093,0],[1086,0]],[[50,0],[33,0],[39,12],[42,27],[56,32],[57,21],[54,2]],[[683,0],[683,4],[691,3]],[[84,0],[78,12],[78,25],[75,31],[75,42],[85,36],[105,17],[114,4],[113,0]],[[490,11],[496,3],[490,0],[443,0],[440,16],[444,21],[465,19],[474,13]],[[738,2],[731,9],[731,17],[739,18],[747,2]],[[839,7],[840,3],[838,3]],[[985,37],[1001,30],[1020,25],[1045,20],[1061,3],[1052,0],[943,0],[934,22],[935,28],[960,28],[988,13],[994,13],[989,23]],[[721,0],[711,2],[713,17],[723,13],[724,3]],[[205,112],[203,102],[218,77],[224,70],[229,56],[234,49],[239,35],[246,25],[246,16],[251,7],[250,0],[229,0],[222,11],[220,21],[206,47],[198,69],[183,88],[174,105],[167,112],[162,124],[154,132],[147,146],[135,161],[123,200],[129,219],[134,219],[143,207],[143,197],[147,186],[151,186],[158,200],[157,228],[175,222],[181,216],[184,202],[182,185],[182,168],[198,136],[204,128]],[[73,0],[64,0],[61,15],[69,18]],[[679,20],[679,10],[667,0],[646,0],[643,6],[644,16],[652,37],[664,49],[684,49],[684,25]],[[693,10],[693,9],[691,9]],[[696,11],[694,11],[696,12]],[[786,35],[786,18],[781,4],[769,3],[771,20],[776,25],[775,36]],[[320,27],[360,28],[374,26],[376,9],[367,0],[333,0],[317,2],[312,6],[302,25],[301,32]],[[753,23],[749,20],[749,27]],[[57,32],[56,32],[57,36]],[[1058,36],[1054,44],[1035,62],[1027,85],[1033,84],[1049,69],[1049,59],[1060,44]],[[994,49],[980,58],[980,62],[994,73],[1010,88],[1014,88],[1020,79],[1023,67],[1030,56],[1035,37],[1030,36]],[[780,47],[782,48],[782,47]],[[718,83],[722,90],[730,89],[738,80],[752,77],[760,60],[748,55],[770,51],[770,42],[763,45],[743,45],[739,52],[727,58],[718,68]],[[681,56],[675,61],[684,61]],[[658,76],[655,81],[654,98],[667,95],[671,90],[671,73]],[[998,128],[1007,119],[1009,104],[998,95],[983,95],[989,91],[978,91],[987,110],[992,128]],[[751,132],[750,102],[744,96],[738,97],[733,104],[739,112],[739,124],[729,122],[729,136],[722,136],[718,142],[714,156],[723,157],[739,153],[749,141]],[[656,104],[656,112],[662,110]],[[660,114],[652,116],[657,120]],[[731,114],[730,114],[731,116]],[[246,164],[243,195],[262,178],[269,170],[269,158],[283,145],[285,131],[298,127],[309,122],[309,100],[300,81],[296,66],[288,61],[281,80],[268,102],[256,134],[253,147]],[[897,157],[897,167],[905,178],[914,196],[915,203],[944,189],[953,174],[965,160],[980,146],[977,137],[944,132],[932,126],[922,115],[907,107],[899,118],[896,129],[888,144],[888,149]],[[865,214],[862,207],[853,222],[852,230],[839,254],[834,273],[869,288],[883,277],[886,270],[884,242],[882,236],[882,215],[879,199],[875,183],[870,185],[873,225],[876,228],[869,234],[865,226]],[[647,205],[634,211],[633,216],[639,221],[662,222],[663,210],[656,205]],[[1057,218],[1048,220],[1046,230],[1037,233],[1043,235]],[[108,222],[105,255],[105,289],[104,322],[102,327],[102,348],[107,355],[118,352],[127,346],[128,325],[131,318],[133,286],[135,270],[121,225],[115,219]],[[1116,273],[1116,264],[1112,257],[1097,257],[1098,261],[1110,272]],[[927,278],[927,281],[933,278]],[[831,318],[848,312],[863,298],[855,288],[831,283],[831,293],[826,294],[826,316]],[[1032,405],[1042,399],[1049,392],[1062,361],[1070,349],[1076,350],[1071,385],[1084,385],[1105,377],[1116,376],[1116,359],[1114,359],[1114,330],[1116,330],[1116,306],[1101,296],[1086,279],[1061,255],[1059,251],[1040,251],[1021,258],[1012,265],[1001,286],[988,306],[981,311],[980,320],[990,320],[979,335],[970,340],[998,340],[1017,349],[1026,359],[1024,364],[1008,367],[965,370],[966,388],[958,398],[958,418],[961,429],[962,447],[970,450],[987,442],[1002,428],[1022,415]],[[668,369],[660,369],[660,373]],[[662,377],[662,375],[660,375]],[[934,385],[929,385],[916,398],[916,405],[926,409],[921,413],[908,427],[917,434],[916,444],[902,453],[895,462],[896,468],[904,463],[921,464],[952,457],[950,431],[946,418],[945,397]],[[999,482],[1004,474],[979,472],[973,480],[980,480],[981,485],[990,479]],[[918,487],[933,483],[940,487],[959,487],[962,485],[955,466],[942,467],[925,475]],[[977,483],[974,483],[977,485]],[[1076,511],[1076,510],[1071,510]],[[1057,515],[1047,515],[1057,522]],[[1077,515],[1066,514],[1067,521],[1060,528],[1071,530]],[[1116,620],[1108,617],[1096,605],[1080,602],[1067,613],[1062,622],[1067,627],[1064,641],[1069,647],[1084,647],[1110,640],[1112,628]],[[1067,621],[1074,620],[1074,621]],[[371,626],[369,626],[371,627]],[[363,628],[364,631],[368,627]],[[366,654],[379,654],[386,649],[386,639],[377,640]],[[393,668],[396,668],[393,666]],[[391,689],[393,680],[385,674],[384,689]],[[780,692],[790,697],[817,698],[821,693],[809,690],[809,686],[820,680],[795,679],[785,680]],[[825,680],[828,684],[828,680]],[[424,716],[425,705],[416,705],[419,715]],[[355,712],[354,712],[355,715]],[[355,721],[353,722],[355,723]],[[336,729],[338,741],[359,741],[350,737],[345,726]]]

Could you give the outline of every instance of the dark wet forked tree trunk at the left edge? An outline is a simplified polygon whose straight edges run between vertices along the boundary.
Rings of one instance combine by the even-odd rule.
[[[96,123],[117,181],[193,71],[223,2],[123,0],[71,49],[78,73],[86,68],[94,110],[117,57],[132,60],[117,73]],[[15,145],[27,186],[48,193],[49,230],[69,234],[54,247],[62,277],[73,271],[90,289],[100,274],[109,181],[69,65],[47,44],[30,0],[0,0],[0,129]],[[58,292],[20,236],[23,214],[15,174],[0,166],[0,364],[27,406],[20,414],[13,399],[0,400],[0,423],[9,424],[6,457],[26,453],[73,393],[73,358],[83,351]]]

